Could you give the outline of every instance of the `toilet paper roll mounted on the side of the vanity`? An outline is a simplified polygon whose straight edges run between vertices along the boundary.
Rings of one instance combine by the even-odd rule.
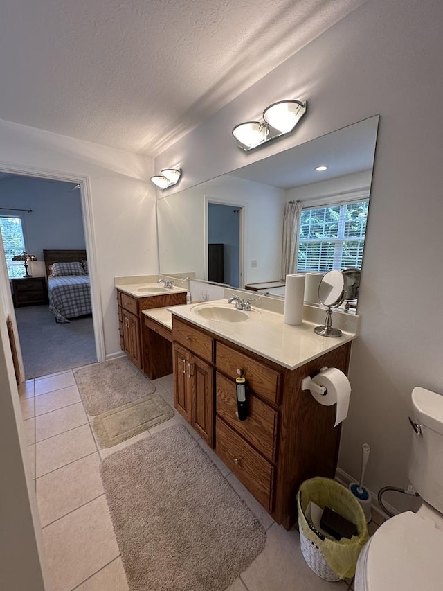
[[[324,406],[337,405],[334,423],[334,427],[336,427],[338,423],[341,423],[347,417],[351,396],[349,380],[340,369],[336,367],[325,367],[320,369],[320,373],[317,373],[311,381],[327,389],[327,394],[324,396],[311,391],[312,396],[314,396],[318,403]]]

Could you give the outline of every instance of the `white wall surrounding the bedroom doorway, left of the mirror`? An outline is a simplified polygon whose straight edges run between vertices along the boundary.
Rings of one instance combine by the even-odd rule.
[[[147,182],[151,159],[0,121],[0,170],[87,179],[105,353],[118,353],[114,276],[158,272],[155,193]]]

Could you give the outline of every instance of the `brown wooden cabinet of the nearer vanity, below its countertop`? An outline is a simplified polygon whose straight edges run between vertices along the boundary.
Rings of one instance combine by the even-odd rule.
[[[347,373],[351,344],[289,370],[174,315],[172,336],[175,407],[275,521],[290,529],[300,484],[314,476],[334,478],[341,434],[341,425],[334,427],[335,405],[317,403],[301,382],[322,367]],[[236,415],[237,370],[246,378],[246,421]]]

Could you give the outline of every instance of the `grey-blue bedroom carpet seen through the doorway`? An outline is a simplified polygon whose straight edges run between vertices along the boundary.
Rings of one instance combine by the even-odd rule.
[[[97,361],[92,317],[58,324],[48,306],[16,308],[15,317],[26,380]]]

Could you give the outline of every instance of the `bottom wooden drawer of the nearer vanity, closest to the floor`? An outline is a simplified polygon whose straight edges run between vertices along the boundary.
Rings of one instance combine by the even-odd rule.
[[[217,416],[217,455],[266,511],[272,511],[273,466]]]

